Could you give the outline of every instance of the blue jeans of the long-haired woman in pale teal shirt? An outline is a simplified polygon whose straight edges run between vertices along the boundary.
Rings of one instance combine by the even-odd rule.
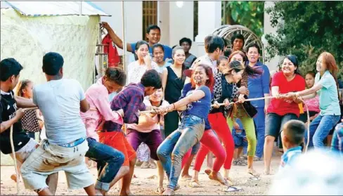
[[[324,146],[324,139],[330,133],[337,122],[339,115],[318,115],[310,124],[310,141],[309,146],[314,148],[322,148]],[[305,132],[305,143],[307,143],[307,131]]]

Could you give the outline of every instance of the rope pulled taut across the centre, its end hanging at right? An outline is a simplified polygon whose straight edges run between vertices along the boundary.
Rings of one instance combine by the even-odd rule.
[[[252,100],[264,100],[264,99],[271,99],[271,98],[282,98],[283,95],[280,94],[279,96],[266,96],[266,97],[261,97],[261,98],[248,98],[245,101],[252,101]],[[306,143],[306,147],[305,147],[305,153],[307,152],[307,149],[309,148],[309,141],[310,141],[310,113],[309,113],[309,107],[307,107],[306,103],[304,102],[304,100],[299,97],[299,100],[302,101],[302,103],[304,104],[304,106],[306,107],[306,113],[307,113],[307,143]],[[238,102],[231,102],[229,103],[230,105],[236,104]],[[214,107],[216,105],[222,106],[225,105],[225,103],[218,103],[218,104],[212,104],[211,106]],[[139,112],[139,114],[147,114],[147,113],[152,113],[155,112],[155,110],[145,110],[145,111],[141,111]]]

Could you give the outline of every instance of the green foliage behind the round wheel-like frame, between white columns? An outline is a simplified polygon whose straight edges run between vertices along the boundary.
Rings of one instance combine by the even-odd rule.
[[[264,1],[222,1],[225,25],[243,25],[261,37],[264,23]]]

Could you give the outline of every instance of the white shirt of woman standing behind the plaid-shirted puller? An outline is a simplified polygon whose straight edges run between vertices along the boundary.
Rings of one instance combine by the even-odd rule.
[[[151,67],[153,67],[154,70],[159,72],[159,67],[158,65],[151,61]],[[130,63],[127,65],[127,84],[130,83],[138,83],[141,82],[141,78],[143,77],[143,74],[147,71],[147,66],[145,64],[139,65],[138,60]]]

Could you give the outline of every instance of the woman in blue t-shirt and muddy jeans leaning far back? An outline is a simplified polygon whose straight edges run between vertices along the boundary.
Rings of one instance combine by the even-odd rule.
[[[201,140],[205,131],[205,119],[211,107],[211,91],[214,86],[211,67],[198,65],[193,72],[191,83],[195,89],[188,91],[185,98],[167,107],[160,107],[162,112],[171,112],[186,106],[179,129],[171,133],[157,149],[157,156],[169,177],[169,184],[163,195],[174,195],[183,155]]]

